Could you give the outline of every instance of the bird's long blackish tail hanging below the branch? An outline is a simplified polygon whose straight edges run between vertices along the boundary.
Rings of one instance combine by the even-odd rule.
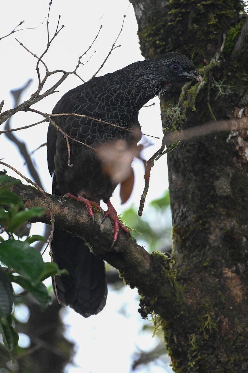
[[[92,254],[81,238],[56,228],[52,251],[59,268],[69,272],[56,276],[57,295],[62,304],[84,317],[100,312],[107,298],[104,261]]]

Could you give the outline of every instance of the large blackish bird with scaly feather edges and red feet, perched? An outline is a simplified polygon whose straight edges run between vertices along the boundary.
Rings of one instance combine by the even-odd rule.
[[[101,200],[107,203],[106,215],[114,220],[113,243],[119,228],[125,230],[125,227],[110,203],[117,182],[105,172],[97,149],[105,145],[112,148],[116,141],[124,142],[127,148],[137,144],[141,138],[138,121],[141,107],[171,87],[189,81],[203,82],[192,60],[180,53],[167,52],[93,77],[68,91],[53,109],[52,115],[88,117],[51,116],[63,131],[60,133],[49,124],[47,161],[53,178],[52,192],[84,202],[91,217],[94,217],[92,204],[98,208]],[[65,134],[69,136],[70,162]],[[107,298],[104,261],[90,251],[82,238],[56,228],[56,223],[52,252],[58,267],[69,273],[56,276],[60,302],[84,317],[98,314]]]

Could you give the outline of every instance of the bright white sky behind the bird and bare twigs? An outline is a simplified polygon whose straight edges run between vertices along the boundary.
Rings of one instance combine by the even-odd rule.
[[[45,50],[47,43],[47,12],[48,0],[9,0],[4,2],[1,9],[0,37],[11,32],[20,21],[25,21],[21,28],[34,28],[16,32],[7,38],[0,40],[1,48],[1,69],[0,69],[0,101],[4,100],[3,110],[10,109],[13,105],[9,94],[11,89],[19,88],[28,79],[33,78],[33,83],[26,91],[24,99],[36,90],[38,80],[35,72],[37,60],[21,47],[15,38],[24,44],[37,56]],[[91,45],[102,23],[100,35],[92,46],[90,52],[83,60],[86,62],[93,54],[90,62],[78,69],[79,75],[87,81],[97,71],[104,61],[117,35],[119,34],[123,15],[126,13],[122,34],[116,48],[103,69],[98,75],[117,70],[132,62],[143,59],[140,54],[138,37],[136,35],[138,26],[136,23],[134,10],[129,6],[128,0],[53,0],[49,28],[50,37],[53,36],[57,26],[58,16],[61,15],[60,25],[65,28],[57,35],[48,53],[43,58],[50,71],[63,69],[74,70],[78,57],[84,53]],[[43,24],[42,24],[43,23]],[[38,27],[37,27],[38,26]],[[40,65],[41,67],[41,65]],[[41,69],[41,74],[43,70]],[[57,74],[55,79],[61,74]],[[54,83],[54,76],[48,79],[46,90]],[[81,84],[76,76],[69,76],[58,88],[59,93],[53,94],[34,106],[35,109],[45,113],[51,113],[59,98],[69,89]],[[144,157],[148,159],[161,144],[161,120],[158,99],[155,106],[143,108],[139,114],[139,122],[142,125],[142,132],[160,137],[155,140],[148,137],[147,141],[155,144],[145,150]],[[151,102],[151,103],[152,103]],[[17,113],[12,119],[12,128],[29,125],[42,120],[40,116],[32,113]],[[29,150],[32,151],[46,142],[47,123],[42,123],[28,130],[17,132],[18,136],[26,141]],[[28,172],[23,167],[23,160],[12,144],[7,142],[3,136],[0,138],[0,158],[11,164],[13,167],[28,176]],[[46,150],[41,148],[35,153],[37,170],[41,175],[45,190],[51,192],[51,178],[47,170]],[[131,199],[124,206],[120,206],[118,192],[113,197],[113,204],[118,213],[122,209],[135,204],[139,206],[139,200],[144,188],[144,170],[141,163],[136,162],[136,185],[135,192]],[[3,167],[0,166],[0,169]],[[160,197],[168,187],[166,158],[162,157],[152,170],[151,186],[148,199]],[[18,177],[8,170],[9,175]],[[145,209],[144,209],[145,215]],[[37,227],[37,225],[36,225]],[[37,229],[37,228],[35,228]],[[38,233],[35,231],[35,233]],[[48,259],[47,259],[48,260]],[[125,308],[125,314],[122,311]],[[109,291],[107,305],[97,316],[84,319],[69,308],[63,309],[65,323],[68,325],[68,338],[73,338],[78,343],[78,351],[74,361],[74,366],[68,367],[68,373],[127,373],[131,371],[131,361],[134,351],[141,348],[149,350],[156,345],[155,339],[151,339],[151,334],[141,334],[142,324],[137,311],[138,296],[134,290],[127,287],[120,292]],[[120,337],[121,336],[121,337]],[[169,364],[169,363],[168,363]],[[169,365],[168,365],[169,366]],[[143,367],[136,372],[153,373],[164,372],[164,368],[157,366]],[[168,372],[170,372],[168,367]]]

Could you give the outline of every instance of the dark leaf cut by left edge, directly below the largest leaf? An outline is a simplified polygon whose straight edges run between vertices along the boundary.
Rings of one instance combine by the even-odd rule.
[[[11,282],[0,267],[0,317],[9,315],[12,312],[14,294]]]

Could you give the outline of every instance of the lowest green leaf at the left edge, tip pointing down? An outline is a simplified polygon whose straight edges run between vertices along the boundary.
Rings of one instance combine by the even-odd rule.
[[[11,317],[1,317],[0,319],[0,331],[3,336],[3,343],[9,352],[10,358],[13,359],[13,350],[18,345],[19,335],[11,323]]]

